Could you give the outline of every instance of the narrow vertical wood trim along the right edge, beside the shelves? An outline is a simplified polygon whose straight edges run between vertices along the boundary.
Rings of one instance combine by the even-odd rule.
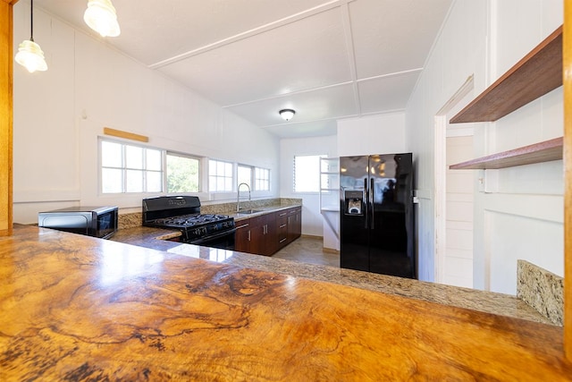
[[[564,353],[572,361],[572,0],[564,0]]]

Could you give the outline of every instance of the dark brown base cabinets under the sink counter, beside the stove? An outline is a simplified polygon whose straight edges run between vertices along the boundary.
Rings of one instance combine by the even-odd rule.
[[[234,249],[272,256],[299,238],[302,233],[302,208],[287,208],[236,222]]]

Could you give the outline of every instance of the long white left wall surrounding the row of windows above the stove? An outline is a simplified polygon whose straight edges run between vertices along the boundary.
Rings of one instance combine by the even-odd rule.
[[[14,51],[29,38],[29,3],[14,6]],[[14,221],[78,204],[139,207],[144,195],[98,193],[103,127],[149,137],[148,146],[269,168],[279,195],[279,140],[57,18],[34,10],[47,72],[14,64]],[[208,203],[231,194],[200,194]]]

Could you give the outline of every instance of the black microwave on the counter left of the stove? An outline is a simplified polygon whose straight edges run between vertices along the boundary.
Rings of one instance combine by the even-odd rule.
[[[117,207],[70,207],[38,213],[38,226],[107,239],[117,231]]]

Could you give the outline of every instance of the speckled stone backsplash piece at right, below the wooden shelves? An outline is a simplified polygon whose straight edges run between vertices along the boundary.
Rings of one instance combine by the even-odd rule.
[[[564,278],[517,260],[517,297],[556,325],[564,323]]]

